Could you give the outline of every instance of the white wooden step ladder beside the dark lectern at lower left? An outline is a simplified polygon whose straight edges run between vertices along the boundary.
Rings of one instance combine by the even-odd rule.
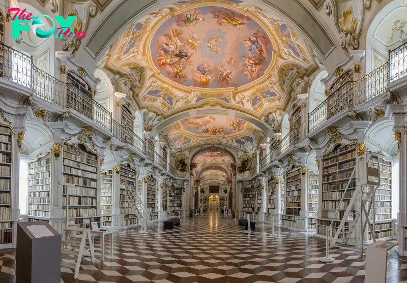
[[[88,244],[86,244],[86,241],[88,241]],[[83,257],[91,257],[92,263],[95,263],[91,230],[84,228],[64,229],[62,234],[62,254],[74,257],[76,263],[62,262],[61,266],[75,269],[73,278],[78,278]]]

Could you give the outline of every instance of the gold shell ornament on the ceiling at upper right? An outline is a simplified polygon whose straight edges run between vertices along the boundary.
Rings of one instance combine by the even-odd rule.
[[[343,49],[352,50],[359,47],[358,35],[356,34],[357,24],[358,21],[354,17],[352,7],[346,7],[342,11],[342,18],[339,20],[339,26],[342,29],[339,38]]]

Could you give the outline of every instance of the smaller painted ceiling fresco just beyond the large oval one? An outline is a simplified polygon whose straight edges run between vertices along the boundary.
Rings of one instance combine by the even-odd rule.
[[[207,141],[222,141],[242,148],[256,146],[265,133],[253,124],[224,115],[188,117],[170,124],[162,132],[173,151]]]

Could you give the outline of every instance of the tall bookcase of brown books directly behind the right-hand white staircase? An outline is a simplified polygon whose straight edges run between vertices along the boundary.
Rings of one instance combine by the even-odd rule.
[[[335,211],[345,191],[352,171],[356,166],[356,145],[337,144],[331,152],[322,158],[322,198],[321,207],[319,207],[319,217],[316,219],[317,234],[326,234],[326,226],[331,224]],[[347,204],[355,191],[356,179],[352,178],[350,187],[343,198],[341,207],[335,217],[333,227],[338,227]],[[349,223],[345,223],[345,230]]]

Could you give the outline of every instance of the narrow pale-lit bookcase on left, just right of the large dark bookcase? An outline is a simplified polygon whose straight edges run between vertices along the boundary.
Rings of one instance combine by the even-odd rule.
[[[112,227],[113,213],[113,170],[102,171],[100,179],[100,209],[102,210],[102,226]]]

